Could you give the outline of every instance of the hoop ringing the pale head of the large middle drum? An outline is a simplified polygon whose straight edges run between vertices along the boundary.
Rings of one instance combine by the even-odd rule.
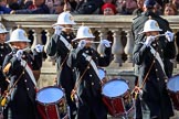
[[[123,80],[123,82],[125,82],[125,83],[127,84],[127,82],[126,82],[125,79],[123,79],[123,78],[113,78],[113,79],[109,79],[106,84],[108,84],[108,83],[110,83],[110,82],[113,82],[113,80]],[[103,90],[104,86],[105,86],[105,84],[103,85],[102,90]],[[127,89],[123,95],[116,96],[116,97],[108,97],[108,96],[106,96],[106,95],[103,94],[103,93],[102,93],[102,95],[105,96],[105,97],[107,97],[107,98],[115,99],[115,98],[119,98],[119,97],[125,96],[125,94],[126,94],[127,91],[129,91],[129,89]]]

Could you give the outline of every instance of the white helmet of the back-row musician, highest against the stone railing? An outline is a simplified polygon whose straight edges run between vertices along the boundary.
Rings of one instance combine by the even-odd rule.
[[[57,22],[53,24],[54,25],[62,25],[62,24],[76,24],[74,22],[74,19],[72,17],[72,14],[67,11],[62,12],[59,17],[57,17]]]

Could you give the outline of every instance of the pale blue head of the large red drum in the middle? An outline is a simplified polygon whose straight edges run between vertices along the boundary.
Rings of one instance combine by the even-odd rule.
[[[107,97],[118,97],[124,95],[128,89],[129,87],[124,79],[112,79],[104,85],[102,94]]]

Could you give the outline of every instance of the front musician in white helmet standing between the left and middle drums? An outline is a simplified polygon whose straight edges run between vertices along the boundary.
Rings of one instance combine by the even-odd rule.
[[[107,66],[110,58],[110,44],[102,40],[99,45],[105,47],[105,55],[101,56],[92,48],[92,40],[95,36],[90,28],[81,26],[74,41],[78,45],[71,52],[67,65],[73,68],[76,84],[72,97],[77,97],[76,119],[107,119],[107,110],[102,101],[102,85],[97,66]]]

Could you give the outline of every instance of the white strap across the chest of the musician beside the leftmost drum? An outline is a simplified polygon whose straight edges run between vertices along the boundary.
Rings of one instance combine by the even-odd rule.
[[[21,60],[21,65],[24,66],[27,73],[29,74],[30,78],[32,79],[32,83],[36,86],[36,80],[34,78],[32,69],[29,67],[29,65],[27,64],[27,62],[24,60]]]

